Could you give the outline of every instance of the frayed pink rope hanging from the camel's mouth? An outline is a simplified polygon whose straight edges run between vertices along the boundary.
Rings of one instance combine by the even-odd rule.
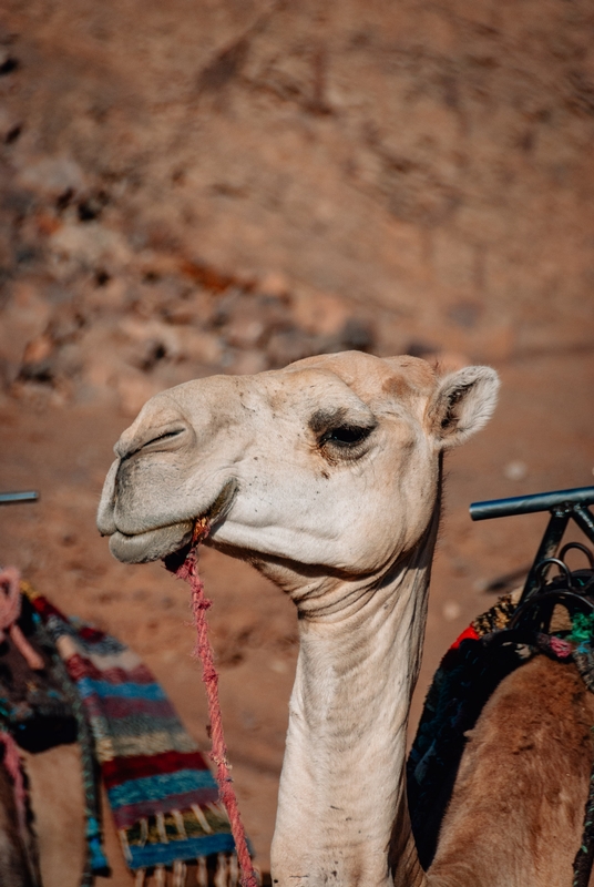
[[[196,648],[194,655],[202,662],[202,680],[206,685],[206,696],[208,699],[208,715],[211,718],[211,758],[216,766],[216,781],[218,783],[218,796],[225,805],[229,817],[231,830],[237,850],[237,860],[242,870],[242,887],[257,887],[256,873],[252,865],[252,858],[247,848],[244,824],[237,805],[237,796],[233,788],[233,779],[229,773],[227,761],[227,746],[223,735],[223,717],[221,714],[221,702],[218,699],[218,673],[215,669],[214,652],[208,639],[208,623],[206,611],[212,605],[212,601],[204,593],[204,585],[198,575],[198,542],[208,533],[208,528],[204,522],[197,522],[194,529],[192,548],[184,563],[176,570],[175,575],[188,583],[192,589],[192,610],[196,623]]]

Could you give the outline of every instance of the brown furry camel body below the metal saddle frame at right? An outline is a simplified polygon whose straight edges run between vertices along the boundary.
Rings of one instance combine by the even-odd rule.
[[[431,887],[569,887],[593,726],[594,694],[574,665],[540,655],[502,681],[470,732]]]

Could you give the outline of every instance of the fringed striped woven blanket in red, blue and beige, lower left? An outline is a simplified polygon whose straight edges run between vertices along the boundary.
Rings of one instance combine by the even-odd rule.
[[[225,868],[219,883],[236,883],[216,782],[148,669],[115,638],[69,620],[23,588],[78,689],[130,868],[173,867],[174,883],[183,885],[185,863],[197,860],[206,883],[206,858],[214,855]],[[92,809],[88,819],[91,870],[99,874],[106,860]]]

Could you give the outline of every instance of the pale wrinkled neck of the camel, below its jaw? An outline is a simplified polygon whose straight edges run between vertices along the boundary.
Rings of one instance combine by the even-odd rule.
[[[434,532],[429,537],[381,581],[340,589],[344,611],[332,603],[318,618],[300,613],[272,850],[279,887],[424,884],[404,757]]]

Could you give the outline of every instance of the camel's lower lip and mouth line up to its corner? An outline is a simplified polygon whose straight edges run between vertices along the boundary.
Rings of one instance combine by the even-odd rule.
[[[186,552],[193,543],[194,528],[202,523],[207,532],[227,516],[237,492],[235,478],[227,481],[208,508],[195,518],[126,534],[115,530],[110,537],[111,553],[123,563],[150,563]]]

